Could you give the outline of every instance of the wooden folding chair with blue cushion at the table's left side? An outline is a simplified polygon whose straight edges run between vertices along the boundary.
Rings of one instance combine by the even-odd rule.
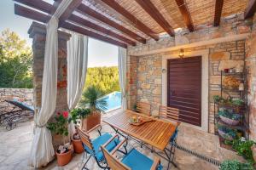
[[[107,167],[107,164],[104,160],[104,156],[102,154],[101,145],[108,142],[108,140],[111,139],[113,136],[110,133],[101,134],[99,132],[100,136],[97,137],[96,139],[91,140],[89,133],[92,132],[93,130],[96,130],[99,127],[101,127],[101,125],[97,125],[96,127],[93,127],[87,133],[84,132],[81,128],[76,127],[76,129],[79,133],[80,139],[82,140],[82,143],[84,146],[84,153],[86,154],[86,158],[87,158],[87,154],[90,154],[90,157],[85,161],[82,169],[88,169],[85,166],[86,166],[87,162],[90,160],[91,156],[93,156],[95,158],[96,163],[99,167],[101,167],[103,169],[105,169]],[[107,150],[108,151],[113,150],[118,144],[119,144],[119,139],[113,140],[108,145]],[[83,156],[83,158],[84,158],[84,156]]]

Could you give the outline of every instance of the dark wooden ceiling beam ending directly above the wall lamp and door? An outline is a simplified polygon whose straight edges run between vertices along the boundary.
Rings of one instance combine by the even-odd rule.
[[[183,15],[183,20],[185,21],[185,24],[188,27],[189,31],[195,31],[195,26],[193,25],[193,21],[189,13],[188,5],[185,3],[184,0],[176,0],[176,3],[180,13]]]

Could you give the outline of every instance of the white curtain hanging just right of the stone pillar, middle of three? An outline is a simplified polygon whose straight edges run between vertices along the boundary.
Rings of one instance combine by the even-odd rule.
[[[67,104],[69,111],[78,104],[82,95],[87,71],[88,37],[71,33],[67,42]],[[69,135],[74,133],[74,124],[68,127]]]

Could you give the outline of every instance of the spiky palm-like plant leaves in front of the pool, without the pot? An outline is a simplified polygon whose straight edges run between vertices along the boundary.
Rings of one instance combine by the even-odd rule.
[[[84,108],[90,108],[91,112],[94,111],[105,111],[108,108],[107,101],[104,99],[100,99],[102,97],[102,92],[96,86],[90,86],[85,89],[82,94],[82,99],[80,101],[80,106]]]

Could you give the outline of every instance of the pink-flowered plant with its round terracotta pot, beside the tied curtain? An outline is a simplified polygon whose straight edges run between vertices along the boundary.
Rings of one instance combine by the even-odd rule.
[[[67,129],[68,123],[68,112],[63,111],[62,113],[58,113],[55,116],[53,122],[49,122],[47,124],[47,128],[57,135],[61,135],[63,144],[61,144],[57,150],[55,150],[55,154],[57,156],[57,161],[59,166],[64,166],[69,163],[72,159],[73,146],[69,143],[65,144],[65,136],[68,135]]]

